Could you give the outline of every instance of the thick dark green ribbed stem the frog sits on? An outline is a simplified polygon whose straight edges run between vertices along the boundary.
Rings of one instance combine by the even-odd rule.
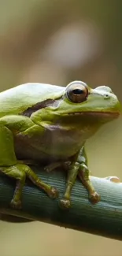
[[[57,187],[60,198],[62,197],[66,185],[64,173],[44,173],[38,167],[35,173],[44,182]],[[96,205],[88,201],[87,191],[79,180],[76,180],[72,188],[70,210],[61,210],[58,198],[48,198],[43,191],[29,182],[23,190],[23,210],[11,210],[9,202],[13,197],[16,182],[6,176],[0,176],[0,213],[122,240],[122,184],[114,184],[94,176],[91,176],[91,182],[101,195],[101,201]]]

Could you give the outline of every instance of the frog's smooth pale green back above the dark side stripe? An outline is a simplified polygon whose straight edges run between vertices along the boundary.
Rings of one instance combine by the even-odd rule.
[[[65,87],[46,83],[24,83],[0,93],[0,117],[22,113],[28,107],[48,98],[57,98]]]

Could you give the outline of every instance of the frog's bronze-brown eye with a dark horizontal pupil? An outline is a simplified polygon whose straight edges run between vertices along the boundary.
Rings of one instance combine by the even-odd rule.
[[[86,101],[88,96],[87,84],[80,81],[69,83],[66,87],[66,96],[74,103]]]

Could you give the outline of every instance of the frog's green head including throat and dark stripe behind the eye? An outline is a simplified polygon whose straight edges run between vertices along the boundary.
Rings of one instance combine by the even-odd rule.
[[[35,119],[36,124],[44,121],[77,128],[98,128],[119,117],[120,109],[120,102],[109,87],[92,89],[86,83],[74,81],[67,87],[58,87],[57,91],[54,87],[51,97],[31,108],[31,119]]]

